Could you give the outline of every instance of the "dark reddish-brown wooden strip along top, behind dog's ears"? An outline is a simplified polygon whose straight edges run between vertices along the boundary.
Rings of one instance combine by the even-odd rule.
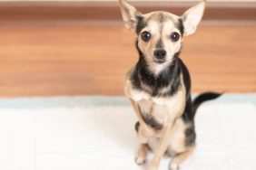
[[[196,3],[134,2],[143,13],[182,14]],[[204,21],[256,23],[256,3],[209,2]],[[117,2],[1,2],[0,23],[45,21],[121,21]]]

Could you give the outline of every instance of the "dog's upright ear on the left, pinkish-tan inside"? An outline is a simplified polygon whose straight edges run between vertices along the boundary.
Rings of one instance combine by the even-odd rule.
[[[125,27],[130,30],[135,30],[138,16],[141,16],[142,14],[126,0],[119,0],[119,4]]]

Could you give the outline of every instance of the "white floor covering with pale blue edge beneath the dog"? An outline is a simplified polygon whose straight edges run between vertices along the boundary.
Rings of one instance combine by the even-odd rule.
[[[203,104],[198,147],[182,169],[255,170],[255,97]],[[0,99],[0,170],[143,169],[133,161],[134,123],[123,98]]]

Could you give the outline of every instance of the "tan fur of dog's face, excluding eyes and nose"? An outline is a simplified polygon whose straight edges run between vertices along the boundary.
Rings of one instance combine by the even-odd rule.
[[[180,34],[179,30],[176,28],[179,17],[166,12],[153,12],[144,14],[143,17],[147,26],[143,28],[141,33],[151,33],[151,39],[148,42],[144,42],[140,33],[138,46],[150,66],[149,69],[155,74],[158,74],[172,62],[174,53],[179,52],[181,49],[182,40],[172,42],[170,38],[172,32]],[[160,41],[162,42],[161,48],[167,52],[166,61],[161,64],[154,61],[155,57],[153,54],[153,52],[159,48],[158,43]]]

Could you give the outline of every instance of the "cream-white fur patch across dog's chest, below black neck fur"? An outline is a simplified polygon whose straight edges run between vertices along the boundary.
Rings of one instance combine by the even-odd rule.
[[[174,118],[181,117],[185,108],[186,90],[183,81],[180,89],[172,96],[153,97],[146,91],[134,89],[131,80],[126,79],[124,93],[138,104],[143,118],[149,116],[163,126],[172,122]]]

